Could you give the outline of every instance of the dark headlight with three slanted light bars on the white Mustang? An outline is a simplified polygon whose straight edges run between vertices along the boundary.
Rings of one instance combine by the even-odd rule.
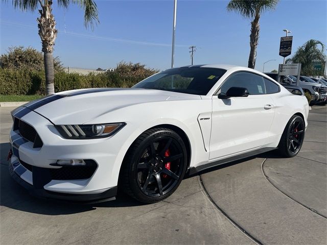
[[[125,126],[125,122],[95,125],[56,125],[62,137],[66,139],[93,139],[113,135]]]

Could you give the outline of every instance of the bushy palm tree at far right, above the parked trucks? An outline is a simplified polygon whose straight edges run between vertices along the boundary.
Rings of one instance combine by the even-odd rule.
[[[319,46],[321,48],[319,48]],[[293,57],[287,59],[286,63],[301,63],[301,74],[303,75],[321,75],[324,69],[317,70],[314,67],[314,61],[320,61],[322,64],[324,63],[326,59],[323,54],[324,47],[322,42],[311,39],[298,47]]]

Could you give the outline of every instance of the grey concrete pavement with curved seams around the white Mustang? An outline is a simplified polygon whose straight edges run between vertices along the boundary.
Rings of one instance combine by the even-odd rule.
[[[1,244],[326,244],[327,107],[313,107],[301,152],[233,162],[182,181],[166,201],[39,200],[6,160],[13,108],[0,108]]]

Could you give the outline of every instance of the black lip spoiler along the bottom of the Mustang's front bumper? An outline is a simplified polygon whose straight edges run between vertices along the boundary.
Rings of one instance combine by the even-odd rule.
[[[117,186],[111,187],[108,190],[97,193],[97,194],[68,194],[59,193],[54,191],[45,190],[43,188],[35,188],[26,181],[22,180],[13,170],[12,164],[9,163],[9,173],[11,177],[22,187],[28,190],[31,195],[42,199],[51,199],[57,201],[81,203],[81,204],[92,204],[101,203],[106,201],[115,200],[117,195]]]

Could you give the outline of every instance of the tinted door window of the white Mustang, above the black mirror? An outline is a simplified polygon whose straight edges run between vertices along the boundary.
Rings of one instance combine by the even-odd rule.
[[[237,72],[231,75],[221,86],[221,92],[226,93],[231,87],[243,87],[250,95],[265,94],[264,78],[251,72]]]

